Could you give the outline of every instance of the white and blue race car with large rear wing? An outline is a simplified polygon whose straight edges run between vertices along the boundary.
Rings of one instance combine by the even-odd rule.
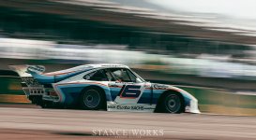
[[[88,110],[200,113],[198,101],[171,85],[150,83],[123,64],[84,64],[52,73],[42,65],[9,65],[32,104]]]

